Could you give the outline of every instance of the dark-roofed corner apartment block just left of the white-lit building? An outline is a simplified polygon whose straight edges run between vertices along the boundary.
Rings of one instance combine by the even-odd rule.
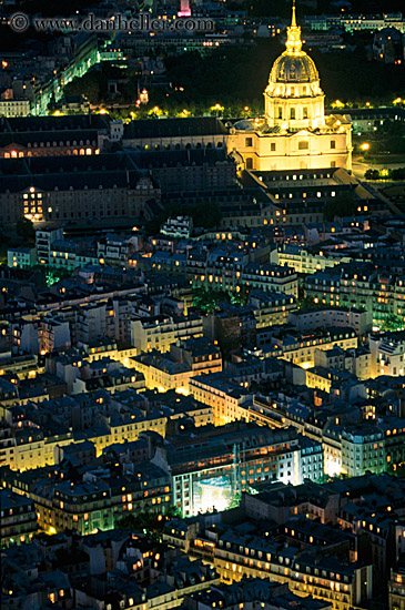
[[[23,475],[7,475],[8,486],[24,491],[27,500],[34,504],[38,525],[48,533],[69,529],[85,536],[113,529],[132,511],[162,515],[170,506],[169,477],[150,464],[138,465],[131,476],[113,476],[109,466],[88,466],[88,472],[77,480],[70,480],[64,469],[63,479],[57,475],[50,477],[48,471],[37,469],[29,484]]]

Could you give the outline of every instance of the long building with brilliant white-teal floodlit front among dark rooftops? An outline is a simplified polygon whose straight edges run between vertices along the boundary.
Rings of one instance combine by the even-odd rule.
[[[159,447],[152,462],[170,474],[173,505],[186,517],[225,510],[257,482],[301,485],[323,476],[320,443],[293,428],[272,430],[253,423],[200,428],[199,436],[181,445],[172,439]]]

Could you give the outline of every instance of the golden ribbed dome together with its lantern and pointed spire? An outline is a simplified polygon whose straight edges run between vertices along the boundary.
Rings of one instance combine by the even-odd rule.
[[[286,51],[277,58],[270,73],[272,83],[305,83],[318,81],[320,75],[315,62],[302,50],[301,28],[295,19],[295,0],[293,0],[293,18],[287,28]]]

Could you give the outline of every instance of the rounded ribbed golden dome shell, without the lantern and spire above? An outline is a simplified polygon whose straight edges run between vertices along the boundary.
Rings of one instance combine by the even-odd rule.
[[[272,83],[311,83],[318,81],[315,62],[304,52],[292,55],[284,51],[273,64],[269,81]]]

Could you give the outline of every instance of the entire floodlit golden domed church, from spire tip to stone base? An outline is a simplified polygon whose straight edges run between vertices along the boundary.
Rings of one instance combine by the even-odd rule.
[[[276,59],[264,91],[265,116],[242,120],[230,131],[227,149],[247,170],[352,167],[352,121],[328,115],[314,61],[302,50],[293,18],[286,50]]]

